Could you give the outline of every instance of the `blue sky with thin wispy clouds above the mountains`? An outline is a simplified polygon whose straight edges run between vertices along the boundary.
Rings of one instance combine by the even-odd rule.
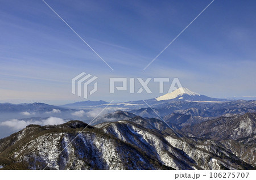
[[[211,97],[256,96],[255,1],[215,0],[144,71],[211,1],[46,2],[114,71],[43,1],[2,0],[0,102],[83,101],[71,94],[71,79],[81,72],[99,77],[89,100],[160,95],[109,95],[110,77],[179,78]]]

